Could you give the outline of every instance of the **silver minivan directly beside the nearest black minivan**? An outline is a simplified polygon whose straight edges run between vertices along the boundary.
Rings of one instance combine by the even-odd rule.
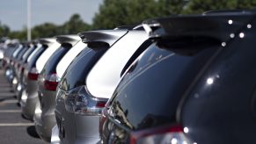
[[[99,115],[119,83],[122,69],[148,39],[144,31],[122,32],[121,39],[110,45],[93,66],[88,62],[91,59],[85,63],[75,59],[63,76],[55,108],[62,143],[100,143]],[[80,36],[83,38],[84,34],[87,33],[82,32]]]

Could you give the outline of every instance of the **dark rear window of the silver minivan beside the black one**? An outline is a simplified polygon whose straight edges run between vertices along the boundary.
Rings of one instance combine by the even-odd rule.
[[[105,47],[99,49],[91,49],[89,47],[84,48],[84,50],[70,63],[69,68],[67,68],[63,74],[60,88],[62,90],[71,90],[80,85],[84,85],[85,76],[87,76],[93,65],[106,50],[107,48]]]

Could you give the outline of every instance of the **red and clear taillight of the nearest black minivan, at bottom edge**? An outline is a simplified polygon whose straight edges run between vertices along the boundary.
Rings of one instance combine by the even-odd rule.
[[[132,132],[130,134],[130,144],[136,143],[196,144],[196,142],[187,138],[181,126],[161,126]]]

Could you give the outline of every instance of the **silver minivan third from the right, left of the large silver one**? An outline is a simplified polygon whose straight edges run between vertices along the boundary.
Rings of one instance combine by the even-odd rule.
[[[74,52],[71,49],[76,49],[74,47],[80,39],[78,35],[62,35],[57,36],[56,40],[62,45],[59,47],[54,54],[52,54],[38,78],[38,97],[40,104],[36,106],[34,114],[34,124],[37,133],[43,140],[50,141],[51,130],[56,124],[55,120],[55,96],[56,87],[60,80],[60,77],[56,72],[56,67],[58,63],[62,60],[62,57],[69,53]],[[86,45],[82,46],[83,48]],[[69,57],[69,59],[72,59]]]

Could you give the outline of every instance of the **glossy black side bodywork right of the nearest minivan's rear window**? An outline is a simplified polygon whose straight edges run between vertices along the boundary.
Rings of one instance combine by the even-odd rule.
[[[256,143],[255,26],[243,32],[245,37],[223,49],[187,96],[181,122],[197,143]]]

